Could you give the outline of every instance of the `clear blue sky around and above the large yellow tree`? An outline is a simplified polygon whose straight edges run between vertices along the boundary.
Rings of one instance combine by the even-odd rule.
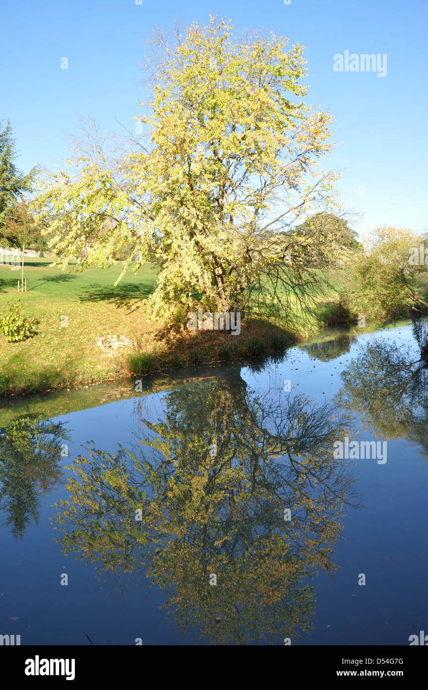
[[[227,15],[305,45],[308,102],[336,117],[333,164],[345,206],[380,224],[420,230],[427,211],[426,0],[6,0],[1,11],[0,119],[10,119],[19,166],[54,168],[77,115],[107,129],[139,115],[138,61],[154,25]],[[387,75],[335,72],[337,53],[387,54]],[[61,58],[68,69],[61,70]],[[362,190],[365,188],[365,197]]]

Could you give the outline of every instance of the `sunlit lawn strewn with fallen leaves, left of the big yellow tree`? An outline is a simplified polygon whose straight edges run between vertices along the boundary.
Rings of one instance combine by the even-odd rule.
[[[129,308],[154,290],[153,268],[145,266],[114,288],[122,268],[119,262],[105,270],[89,268],[83,273],[49,268],[50,263],[50,259],[28,259],[26,293],[17,292],[21,271],[0,266],[0,314],[8,302],[19,299],[24,315],[40,322],[39,335],[25,342],[8,343],[0,336],[3,394],[115,377],[123,371],[121,357],[103,355],[96,338],[119,333],[132,340],[144,339],[138,312],[131,314]]]

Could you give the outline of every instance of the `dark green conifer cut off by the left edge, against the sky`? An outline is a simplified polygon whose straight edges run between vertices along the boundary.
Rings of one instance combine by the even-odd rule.
[[[0,121],[0,237],[11,211],[21,196],[30,191],[36,174],[33,168],[28,175],[23,175],[14,164],[16,155],[10,122],[3,127]]]

